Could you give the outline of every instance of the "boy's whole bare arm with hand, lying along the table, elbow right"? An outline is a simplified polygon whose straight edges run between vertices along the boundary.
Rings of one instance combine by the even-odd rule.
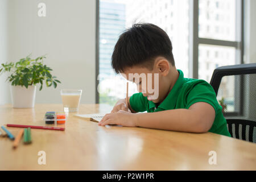
[[[173,109],[155,113],[131,114],[121,111],[106,114],[99,125],[110,123],[152,129],[204,133],[212,127],[215,110],[206,102],[196,102],[189,109]]]

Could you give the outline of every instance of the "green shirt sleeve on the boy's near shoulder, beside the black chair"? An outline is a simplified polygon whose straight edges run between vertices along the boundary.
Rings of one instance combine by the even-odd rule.
[[[197,80],[189,89],[186,109],[196,102],[207,102],[214,108],[216,114],[218,109],[220,109],[220,105],[218,104],[216,94],[212,86],[204,80]]]

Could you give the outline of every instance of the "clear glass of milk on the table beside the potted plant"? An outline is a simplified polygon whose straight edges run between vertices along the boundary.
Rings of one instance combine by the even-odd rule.
[[[60,95],[64,112],[77,112],[81,100],[82,90],[61,89]]]

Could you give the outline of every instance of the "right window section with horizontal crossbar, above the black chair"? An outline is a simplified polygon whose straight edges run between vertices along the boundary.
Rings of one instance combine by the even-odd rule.
[[[215,20],[211,21],[210,27],[207,27],[207,31],[199,29],[199,50],[209,51],[207,55],[214,55],[213,58],[199,56],[199,65],[204,64],[205,61],[211,61],[214,64],[210,64],[210,67],[206,70],[199,69],[198,77],[206,81],[210,81],[212,73],[216,68],[222,65],[233,65],[241,63],[242,48],[238,47],[242,41],[242,25],[241,16],[242,10],[241,1],[238,0],[226,0],[226,1],[210,1],[216,5],[215,9],[207,9],[208,1],[200,0],[199,9],[215,16]],[[242,8],[241,8],[242,9]],[[230,18],[233,17],[233,18]],[[204,17],[204,14],[199,15],[199,26],[208,26],[208,17]],[[214,30],[211,30],[214,28]],[[226,30],[226,31],[225,31]],[[205,55],[205,54],[202,54]],[[228,55],[228,56],[221,56]]]

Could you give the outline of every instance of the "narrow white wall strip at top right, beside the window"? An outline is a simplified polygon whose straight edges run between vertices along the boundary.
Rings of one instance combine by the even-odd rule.
[[[245,0],[245,63],[256,63],[255,0]]]

